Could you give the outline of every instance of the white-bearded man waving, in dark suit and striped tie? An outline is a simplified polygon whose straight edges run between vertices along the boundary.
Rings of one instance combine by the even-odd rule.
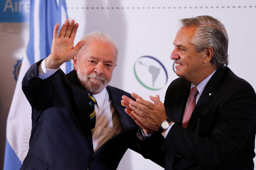
[[[124,112],[122,95],[108,86],[118,49],[92,32],[74,47],[78,23],[67,19],[53,31],[51,54],[32,65],[22,90],[32,107],[29,151],[21,169],[115,170],[128,148],[138,152],[139,126]],[[73,58],[65,75],[60,65]]]

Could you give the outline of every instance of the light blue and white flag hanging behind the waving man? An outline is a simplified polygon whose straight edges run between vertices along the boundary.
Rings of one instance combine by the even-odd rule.
[[[7,118],[4,170],[19,170],[29,148],[31,107],[22,92],[21,81],[33,63],[50,54],[53,28],[56,23],[61,27],[66,18],[65,0],[30,1],[29,41]],[[69,61],[60,68],[68,73],[72,67]]]

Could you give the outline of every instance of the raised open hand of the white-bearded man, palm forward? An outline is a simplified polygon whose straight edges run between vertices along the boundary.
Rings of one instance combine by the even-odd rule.
[[[58,69],[61,64],[71,60],[84,46],[85,41],[79,41],[74,47],[74,39],[78,23],[75,20],[64,21],[58,36],[59,24],[54,26],[51,54],[45,60],[45,67],[48,69]]]

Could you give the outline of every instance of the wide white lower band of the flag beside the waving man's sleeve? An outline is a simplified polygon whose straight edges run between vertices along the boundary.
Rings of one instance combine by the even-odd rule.
[[[17,85],[7,118],[6,138],[22,162],[28,153],[28,140],[31,132],[31,107],[21,90],[21,81],[30,67],[28,57],[22,60]]]

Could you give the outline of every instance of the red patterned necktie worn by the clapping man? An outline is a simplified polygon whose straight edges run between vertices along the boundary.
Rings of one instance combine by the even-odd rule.
[[[182,121],[182,127],[185,129],[187,129],[189,119],[196,105],[196,98],[195,98],[196,94],[197,94],[197,89],[195,86],[195,87],[192,87],[192,89],[190,90],[188,107],[186,109],[186,112],[184,114],[183,121]]]

